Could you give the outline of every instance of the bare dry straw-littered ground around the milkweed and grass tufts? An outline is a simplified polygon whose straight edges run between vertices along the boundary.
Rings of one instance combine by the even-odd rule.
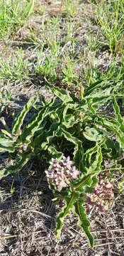
[[[62,17],[62,29],[58,36],[62,38],[65,33],[64,18],[65,10],[58,5],[50,4],[50,1],[37,1],[35,10],[40,4],[46,4],[46,14],[49,17],[60,15]],[[74,28],[73,36],[78,39],[74,46],[75,69],[80,74],[80,80],[85,85],[84,67],[89,63],[92,65],[87,35],[94,36],[96,33],[102,38],[101,29],[94,21],[95,1],[80,1],[79,12],[76,16],[78,26]],[[8,113],[13,110],[18,114],[27,100],[35,93],[52,97],[52,92],[47,87],[44,78],[35,73],[34,43],[26,43],[28,28],[31,26],[35,35],[40,38],[40,23],[42,14],[35,11],[22,28],[16,31],[13,40],[7,42],[7,46],[1,43],[4,58],[10,53],[16,54],[18,48],[23,48],[25,58],[32,66],[32,73],[22,80],[1,79],[1,87],[11,90],[12,99]],[[23,42],[23,43],[21,43]],[[63,41],[62,41],[63,42]],[[61,50],[69,47],[69,43],[62,43]],[[82,53],[83,60],[79,59]],[[119,58],[117,55],[116,58]],[[96,64],[100,70],[106,70],[111,65],[111,53],[106,47],[101,46],[96,52]],[[64,65],[64,64],[63,64]],[[57,81],[56,81],[57,84]],[[61,83],[61,85],[63,85]],[[66,85],[63,85],[66,86]],[[75,90],[72,88],[71,90]],[[7,117],[7,124],[11,126],[11,117]],[[30,118],[30,116],[28,116]],[[10,164],[10,156],[1,154],[1,169]],[[65,220],[62,238],[57,242],[55,230],[55,217],[62,207],[62,202],[52,201],[52,193],[47,186],[44,174],[45,167],[40,159],[30,161],[26,167],[15,176],[2,178],[0,181],[0,255],[1,256],[124,256],[124,193],[118,194],[114,191],[114,200],[109,213],[96,213],[94,208],[89,213],[91,230],[95,237],[94,249],[87,245],[86,238],[77,228],[77,218],[72,214]],[[120,176],[117,174],[116,182]],[[14,191],[11,193],[13,184]]]

